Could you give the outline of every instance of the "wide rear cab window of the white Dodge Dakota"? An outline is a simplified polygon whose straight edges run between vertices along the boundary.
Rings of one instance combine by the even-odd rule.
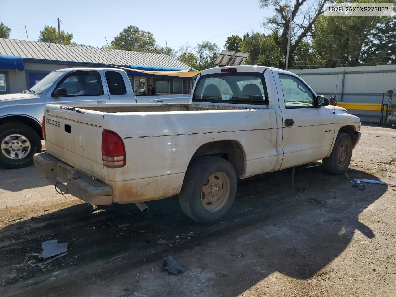
[[[207,74],[198,79],[193,101],[268,105],[267,86],[257,72]]]

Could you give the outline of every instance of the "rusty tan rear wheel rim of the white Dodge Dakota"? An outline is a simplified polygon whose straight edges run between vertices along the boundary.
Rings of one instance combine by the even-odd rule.
[[[227,203],[230,196],[230,186],[230,179],[225,173],[215,172],[211,174],[202,186],[202,206],[210,212],[221,209]]]

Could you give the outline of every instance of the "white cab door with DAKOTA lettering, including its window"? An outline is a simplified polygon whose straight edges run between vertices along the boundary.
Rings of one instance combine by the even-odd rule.
[[[278,73],[274,78],[278,80],[277,86],[282,86],[281,91],[278,90],[284,150],[280,169],[326,157],[334,138],[333,111],[315,107],[316,95],[296,76]]]

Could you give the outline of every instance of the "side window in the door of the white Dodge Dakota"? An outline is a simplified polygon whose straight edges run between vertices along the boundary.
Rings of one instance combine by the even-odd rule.
[[[298,78],[279,74],[286,108],[314,107],[314,94]]]

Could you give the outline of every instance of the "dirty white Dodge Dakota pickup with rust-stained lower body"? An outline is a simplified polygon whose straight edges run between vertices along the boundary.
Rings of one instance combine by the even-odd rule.
[[[190,104],[46,105],[47,152],[34,163],[90,204],[179,195],[201,223],[231,207],[237,180],[323,160],[343,173],[360,119],[329,106],[299,76],[262,66],[202,71]]]

